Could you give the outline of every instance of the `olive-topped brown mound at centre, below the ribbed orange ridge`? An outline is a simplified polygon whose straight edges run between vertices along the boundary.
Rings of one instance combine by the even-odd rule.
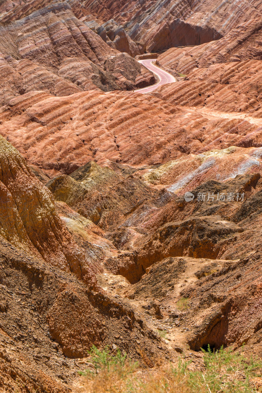
[[[117,173],[94,162],[47,183],[56,200],[66,202],[75,211],[104,230],[127,220],[137,207],[155,195],[145,183],[133,178],[132,171]]]

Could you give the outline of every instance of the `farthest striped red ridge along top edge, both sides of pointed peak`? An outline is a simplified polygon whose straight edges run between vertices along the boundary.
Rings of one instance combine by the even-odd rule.
[[[22,19],[50,3],[50,0],[3,1],[0,8],[2,12],[0,23],[7,24]],[[77,18],[84,18],[84,21],[94,21],[98,18],[97,21],[107,22],[114,19],[114,23],[123,25],[129,35],[128,38],[122,30],[116,45],[125,41],[125,48],[128,49],[130,40],[133,40],[146,45],[149,52],[168,49],[172,45],[199,45],[218,39],[239,24],[253,18],[260,18],[262,12],[258,0],[240,5],[238,0],[222,4],[219,0],[199,0],[193,4],[188,1],[177,3],[174,0],[143,3],[68,0],[64,3],[72,8]],[[110,43],[110,46],[112,45]],[[133,50],[135,45],[135,43],[131,45]]]

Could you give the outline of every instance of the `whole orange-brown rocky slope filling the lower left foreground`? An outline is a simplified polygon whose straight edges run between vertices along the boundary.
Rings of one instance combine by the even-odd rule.
[[[124,339],[121,349],[134,358],[140,338],[147,365],[165,356],[161,351],[157,355],[159,340],[151,342],[151,331],[141,326],[133,309],[107,296],[97,284],[95,274],[103,270],[99,257],[114,254],[113,244],[102,240],[102,231],[83,216],[55,204],[25,159],[2,137],[0,201],[4,389],[24,393],[26,383],[27,390],[69,392],[66,385],[76,378],[76,367],[85,367],[71,359],[85,357],[93,344],[112,347],[116,333],[121,337],[118,347]]]

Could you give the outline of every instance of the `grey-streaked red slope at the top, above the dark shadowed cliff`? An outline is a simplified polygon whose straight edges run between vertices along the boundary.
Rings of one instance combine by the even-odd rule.
[[[121,22],[130,23],[131,21],[131,24],[137,20],[144,27],[146,23],[150,26],[150,23],[156,20],[162,22],[164,19],[180,18],[183,20],[188,19],[194,25],[200,25],[201,21],[203,25],[209,24],[217,28],[221,33],[229,31],[239,21],[249,20],[250,15],[259,17],[261,12],[261,4],[258,0],[241,4],[241,8],[235,0],[231,3],[221,3],[220,0],[197,0],[193,3],[185,0],[179,2],[174,0],[164,2],[153,0],[144,1],[143,3],[123,0],[115,2],[80,0],[74,1],[74,3],[81,3],[83,12],[90,10],[103,20],[114,18],[116,21]],[[212,18],[210,17],[211,14]],[[225,16],[227,17],[225,18]]]

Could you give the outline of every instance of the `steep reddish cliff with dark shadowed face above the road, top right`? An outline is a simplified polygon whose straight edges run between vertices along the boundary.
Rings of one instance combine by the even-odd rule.
[[[174,46],[199,45],[218,39],[236,28],[240,23],[259,18],[262,5],[259,1],[195,1],[157,2],[147,10],[145,17],[128,24],[132,39],[146,43],[146,49],[161,51]]]

